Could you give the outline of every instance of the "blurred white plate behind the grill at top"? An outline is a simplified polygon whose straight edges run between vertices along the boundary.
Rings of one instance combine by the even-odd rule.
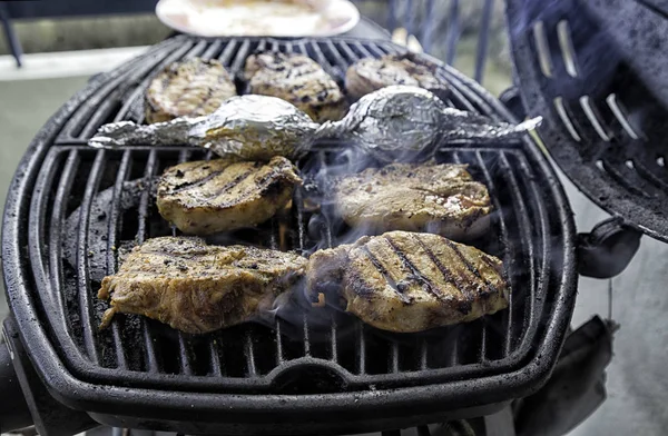
[[[156,14],[200,37],[331,37],[360,21],[348,0],[160,0]]]

